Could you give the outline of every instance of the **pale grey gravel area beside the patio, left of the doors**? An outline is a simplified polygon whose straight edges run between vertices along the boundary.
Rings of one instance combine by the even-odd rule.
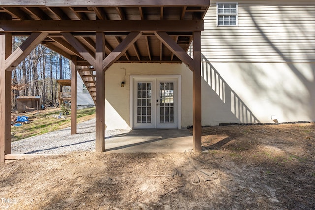
[[[106,130],[106,138],[128,132]],[[105,139],[106,141],[106,139]],[[65,128],[11,143],[11,153],[24,154],[66,154],[95,151],[95,119],[77,125],[77,134],[71,135],[71,128]]]

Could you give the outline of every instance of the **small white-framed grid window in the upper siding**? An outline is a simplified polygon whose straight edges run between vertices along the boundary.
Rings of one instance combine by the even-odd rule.
[[[217,26],[238,26],[237,13],[237,3],[217,3]]]

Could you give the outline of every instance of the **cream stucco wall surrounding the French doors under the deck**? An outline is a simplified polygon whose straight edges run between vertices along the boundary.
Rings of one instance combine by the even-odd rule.
[[[115,63],[105,73],[107,129],[130,128],[130,75],[181,75],[181,125],[192,124],[192,72],[183,64]],[[121,87],[121,82],[125,86]]]

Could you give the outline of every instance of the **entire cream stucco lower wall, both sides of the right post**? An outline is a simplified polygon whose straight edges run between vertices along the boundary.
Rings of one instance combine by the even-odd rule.
[[[314,70],[315,64],[202,62],[202,125],[274,123],[271,116],[315,121]],[[107,129],[130,128],[130,75],[172,74],[181,75],[181,126],[192,125],[192,73],[184,64],[116,63],[105,76]]]

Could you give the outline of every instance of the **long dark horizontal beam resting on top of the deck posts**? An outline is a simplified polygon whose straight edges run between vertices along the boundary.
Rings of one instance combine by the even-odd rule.
[[[203,20],[23,20],[0,21],[5,32],[203,31]]]

